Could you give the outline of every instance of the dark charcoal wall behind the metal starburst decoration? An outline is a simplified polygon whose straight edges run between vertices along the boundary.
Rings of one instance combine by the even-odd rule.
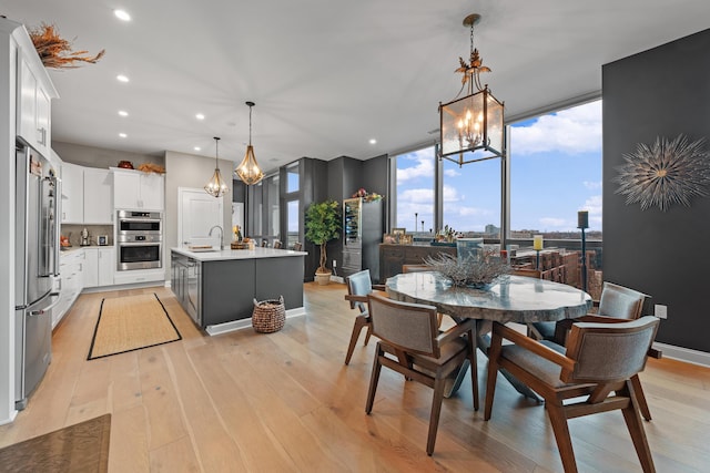
[[[710,197],[668,212],[615,192],[622,155],[658,136],[709,140],[710,30],[602,66],[604,277],[668,306],[657,341],[710,352]],[[652,306],[651,306],[652,307]]]

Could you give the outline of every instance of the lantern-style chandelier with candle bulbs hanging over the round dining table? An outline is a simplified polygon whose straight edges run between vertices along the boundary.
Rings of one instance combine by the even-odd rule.
[[[480,73],[490,72],[490,69],[483,65],[478,50],[474,48],[474,24],[478,21],[480,16],[476,13],[464,19],[464,25],[470,28],[470,58],[469,62],[458,58],[460,66],[456,70],[464,74],[458,95],[464,88],[467,95],[462,99],[456,95],[445,104],[439,102],[439,157],[453,161],[459,167],[503,156],[505,152],[504,104],[491,95],[488,84],[480,84]]]

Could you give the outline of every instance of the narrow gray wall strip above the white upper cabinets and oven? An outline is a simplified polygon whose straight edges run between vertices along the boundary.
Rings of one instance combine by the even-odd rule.
[[[87,167],[99,167],[108,169],[116,167],[121,161],[130,161],[133,167],[143,163],[165,165],[165,158],[149,154],[128,153],[124,151],[105,150],[102,147],[84,146],[73,143],[52,142],[52,150],[57,152],[62,161],[79,164]]]

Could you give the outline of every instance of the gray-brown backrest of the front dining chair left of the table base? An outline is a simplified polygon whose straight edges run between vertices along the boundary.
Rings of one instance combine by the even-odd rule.
[[[399,302],[376,294],[367,299],[375,337],[406,352],[440,357],[436,307]]]

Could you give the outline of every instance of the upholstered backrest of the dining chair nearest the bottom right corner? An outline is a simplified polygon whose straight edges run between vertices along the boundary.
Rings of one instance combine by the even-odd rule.
[[[652,316],[619,323],[574,323],[566,354],[577,362],[574,371],[562,371],[560,379],[596,383],[629,379],[646,367],[658,323]]]

